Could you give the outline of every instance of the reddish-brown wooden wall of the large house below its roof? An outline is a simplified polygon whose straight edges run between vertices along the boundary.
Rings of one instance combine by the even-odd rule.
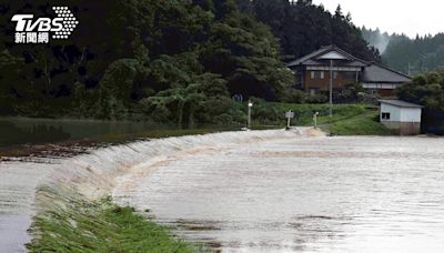
[[[316,90],[329,90],[330,89],[330,71],[324,71],[324,79],[312,79],[311,71],[307,70],[304,73],[304,90],[310,91],[311,89]],[[333,79],[333,89],[344,88],[345,84],[355,83],[356,77],[347,79],[344,72],[337,72],[336,79]]]

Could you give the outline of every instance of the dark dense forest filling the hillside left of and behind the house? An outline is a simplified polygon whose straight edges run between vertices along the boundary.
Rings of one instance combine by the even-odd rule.
[[[54,4],[0,3],[1,114],[242,122],[233,94],[292,102],[284,59],[331,43],[379,59],[350,14],[306,0],[68,0],[80,21],[68,40],[13,43],[13,14]]]

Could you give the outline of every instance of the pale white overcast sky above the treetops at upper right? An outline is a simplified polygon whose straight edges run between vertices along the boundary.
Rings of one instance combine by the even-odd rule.
[[[389,33],[410,37],[444,32],[444,2],[441,0],[313,0],[334,13],[340,3],[344,14],[352,13],[353,23],[380,28]]]

